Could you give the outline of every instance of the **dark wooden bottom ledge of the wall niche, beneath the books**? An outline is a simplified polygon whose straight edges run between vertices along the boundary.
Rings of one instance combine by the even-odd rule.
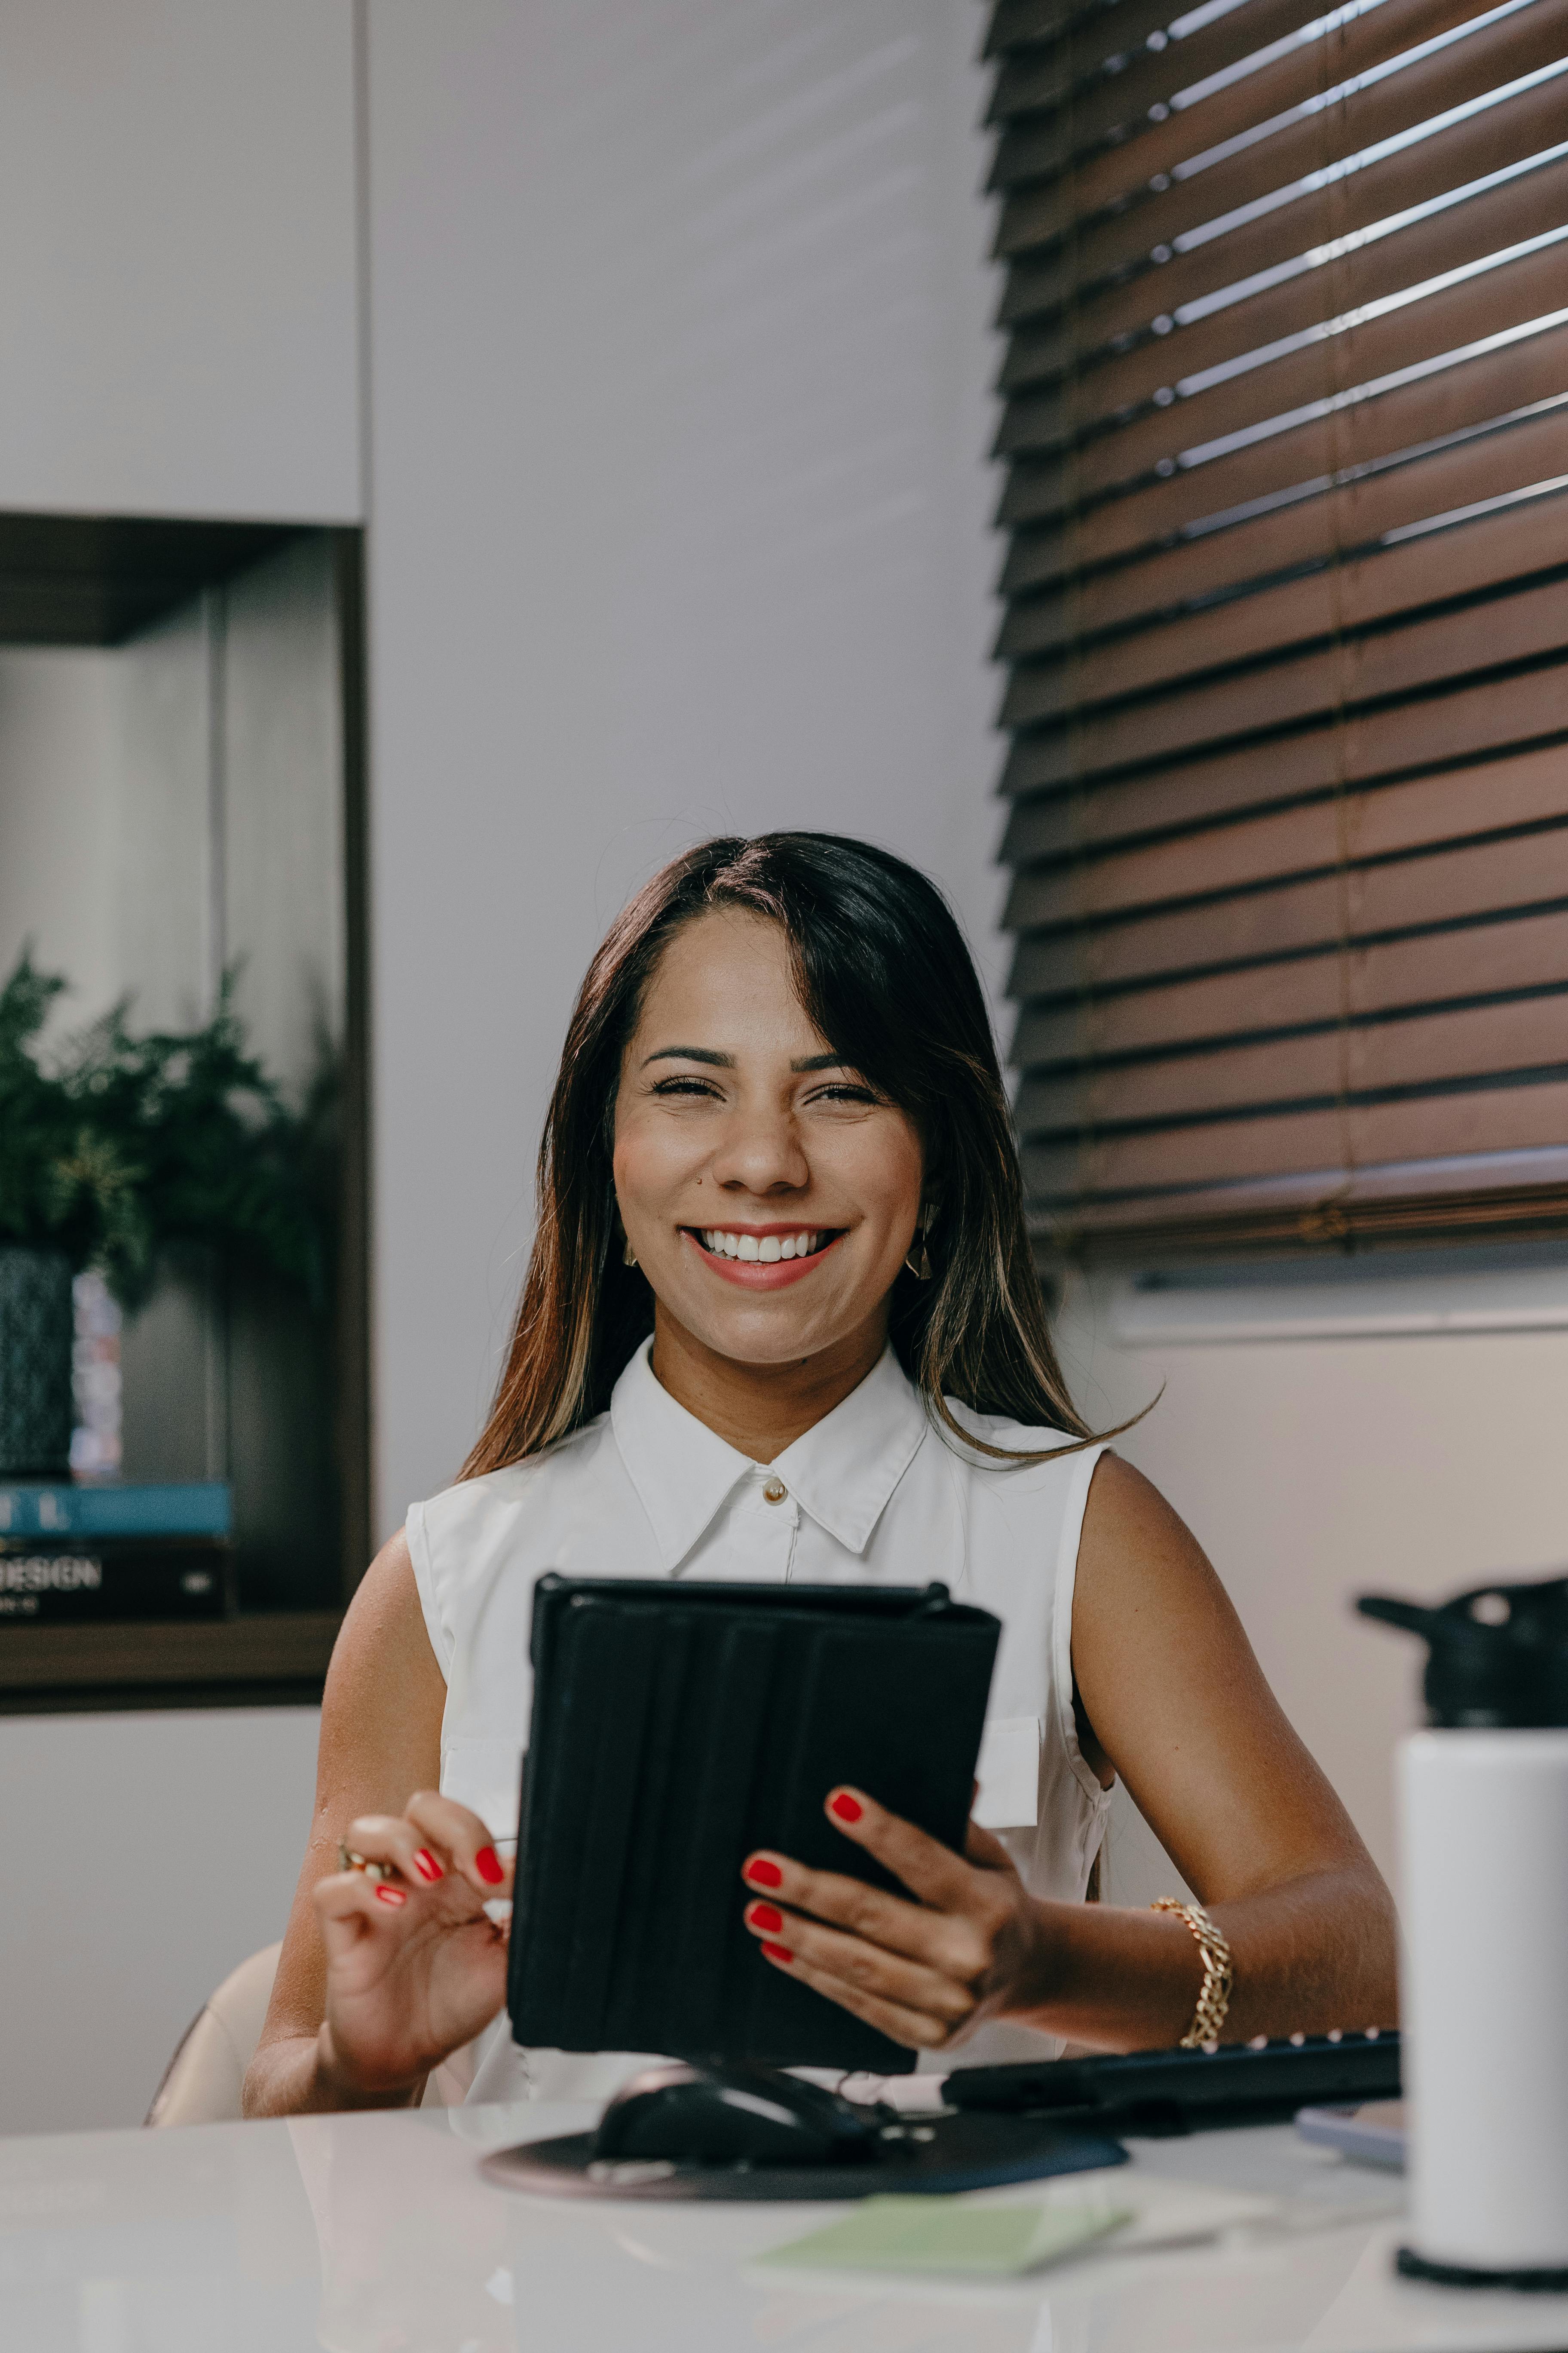
[[[0,1715],[315,1706],[341,1614],[0,1628]]]

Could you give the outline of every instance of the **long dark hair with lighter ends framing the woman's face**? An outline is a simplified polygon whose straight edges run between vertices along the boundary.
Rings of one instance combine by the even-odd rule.
[[[762,833],[672,859],[611,925],[588,967],[538,1148],[538,1231],[512,1344],[463,1478],[569,1438],[609,1405],[654,1294],[623,1264],[611,1174],[621,1059],[672,934],[710,908],[778,922],[799,998],[844,1064],[914,1120],[926,1165],[931,1280],[900,1273],[891,1339],[926,1409],[978,1442],[980,1414],[1091,1433],[1056,1362],[1023,1217],[1018,1151],[985,998],[943,894],[903,859],[842,833]]]

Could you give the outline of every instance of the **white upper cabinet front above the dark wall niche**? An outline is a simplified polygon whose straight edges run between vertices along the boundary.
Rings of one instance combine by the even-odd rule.
[[[0,508],[360,515],[353,0],[0,0]]]

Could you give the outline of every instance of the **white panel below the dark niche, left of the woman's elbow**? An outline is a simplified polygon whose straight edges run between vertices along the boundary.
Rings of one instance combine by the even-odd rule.
[[[0,1718],[0,2134],[139,2125],[181,2033],[273,1944],[315,1708]]]

